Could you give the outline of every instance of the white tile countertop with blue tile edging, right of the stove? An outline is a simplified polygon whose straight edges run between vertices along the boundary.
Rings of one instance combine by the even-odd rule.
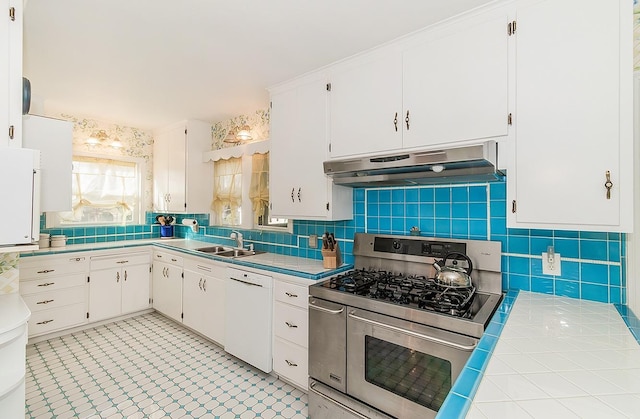
[[[612,304],[509,292],[438,417],[638,418],[630,327]]]

